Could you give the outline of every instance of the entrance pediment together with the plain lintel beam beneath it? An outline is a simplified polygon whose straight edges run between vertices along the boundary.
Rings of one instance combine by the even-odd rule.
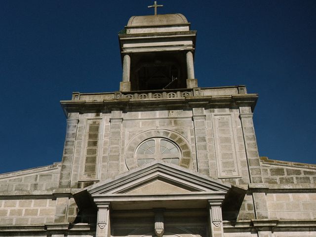
[[[154,161],[73,196],[79,209],[104,202],[111,203],[114,209],[202,208],[212,201],[224,201],[234,189],[196,171]]]

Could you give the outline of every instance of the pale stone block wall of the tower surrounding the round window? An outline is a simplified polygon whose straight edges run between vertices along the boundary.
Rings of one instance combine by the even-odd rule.
[[[148,135],[174,142],[179,165],[237,185],[249,183],[247,159],[259,160],[250,108],[182,108],[71,113],[59,188],[84,188],[134,167]],[[250,116],[240,119],[241,114]],[[163,132],[164,131],[164,132]],[[247,146],[247,150],[245,148]],[[259,164],[256,163],[256,165]]]

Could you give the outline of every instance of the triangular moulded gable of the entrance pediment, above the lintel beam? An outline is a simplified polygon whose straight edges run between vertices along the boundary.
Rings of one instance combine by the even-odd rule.
[[[88,187],[92,197],[115,194],[152,195],[195,192],[227,193],[231,185],[208,176],[164,162],[153,162],[130,170],[115,179]]]

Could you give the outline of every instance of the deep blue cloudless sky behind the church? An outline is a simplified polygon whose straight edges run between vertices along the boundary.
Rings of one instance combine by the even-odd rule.
[[[1,0],[0,173],[61,161],[73,91],[118,90],[120,31],[151,0]],[[201,87],[258,93],[259,155],[316,163],[316,1],[161,0],[197,30]]]

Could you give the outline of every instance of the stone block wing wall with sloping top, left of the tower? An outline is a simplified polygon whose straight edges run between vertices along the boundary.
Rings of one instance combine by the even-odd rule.
[[[60,163],[0,175],[1,225],[54,222]]]

